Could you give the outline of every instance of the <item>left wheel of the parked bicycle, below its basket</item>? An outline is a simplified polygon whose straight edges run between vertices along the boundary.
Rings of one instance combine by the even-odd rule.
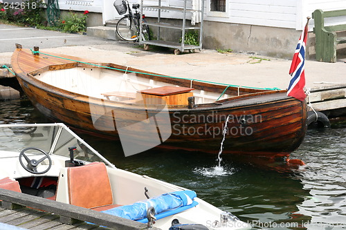
[[[125,41],[137,40],[137,28],[134,21],[128,15],[122,17],[118,23],[116,23],[116,33],[121,39]]]

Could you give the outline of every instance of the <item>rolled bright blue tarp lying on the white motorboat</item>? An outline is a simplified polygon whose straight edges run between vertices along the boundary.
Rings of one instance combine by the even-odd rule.
[[[196,192],[191,190],[175,191],[172,193],[159,195],[156,198],[139,201],[131,205],[124,205],[105,210],[102,211],[102,213],[116,215],[129,220],[142,220],[147,218],[147,209],[149,209],[149,207],[154,207],[155,214],[182,207],[191,208],[198,204],[197,202],[193,201],[193,199],[196,197]],[[183,210],[185,209],[181,209],[181,211]],[[174,213],[172,213],[171,215],[173,215]]]

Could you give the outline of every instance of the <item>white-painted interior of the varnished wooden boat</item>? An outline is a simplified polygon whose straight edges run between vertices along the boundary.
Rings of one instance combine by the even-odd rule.
[[[135,73],[121,73],[107,68],[78,67],[64,70],[51,70],[34,77],[46,84],[73,93],[128,103],[134,102],[134,99],[136,99],[136,93],[141,90],[162,86],[179,87],[174,84],[167,84],[154,79],[138,77]],[[193,83],[194,81],[191,80],[190,88],[193,88]],[[226,87],[227,86],[225,86],[225,88]],[[107,93],[112,94],[107,96]],[[226,93],[221,95],[221,93],[197,89],[192,90],[192,93],[195,97],[195,104],[212,103],[220,99],[231,97],[231,95]]]

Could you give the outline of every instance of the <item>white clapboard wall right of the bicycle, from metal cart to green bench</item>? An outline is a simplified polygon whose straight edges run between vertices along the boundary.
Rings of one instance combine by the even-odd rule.
[[[188,6],[192,0],[187,0]],[[148,2],[148,1],[145,1]],[[150,2],[150,1],[149,1]],[[152,3],[157,1],[152,1]],[[166,5],[164,5],[166,4]],[[165,0],[164,6],[183,6],[183,0]],[[204,20],[226,23],[239,23],[255,26],[271,26],[278,28],[292,28],[302,30],[307,17],[311,17],[316,9],[338,10],[346,9],[345,0],[229,0],[226,2],[226,12],[210,11],[210,0],[205,0]],[[147,13],[155,17],[154,13]],[[181,18],[176,12],[164,12],[162,17]],[[189,15],[191,17],[191,15]],[[188,17],[188,18],[189,18]],[[334,19],[345,23],[345,19]],[[313,20],[310,21],[310,30]]]

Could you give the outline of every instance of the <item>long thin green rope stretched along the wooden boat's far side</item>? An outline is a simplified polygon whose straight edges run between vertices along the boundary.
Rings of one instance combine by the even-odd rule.
[[[219,84],[221,86],[227,86],[226,89],[224,90],[223,93],[221,93],[220,97],[222,95],[224,95],[224,93],[226,92],[227,88],[229,87],[242,87],[242,88],[251,88],[251,89],[259,89],[259,90],[280,90],[280,88],[257,88],[257,87],[251,87],[251,86],[237,86],[237,85],[230,85],[230,84],[224,84],[224,83],[218,83],[218,82],[210,82],[210,81],[205,81],[205,80],[199,80],[199,79],[192,79],[192,78],[184,78],[184,77],[172,77],[172,76],[167,76],[167,75],[156,75],[156,74],[152,74],[152,73],[142,73],[142,72],[138,72],[138,71],[133,71],[133,70],[122,70],[121,68],[113,68],[113,67],[109,67],[109,66],[101,66],[101,65],[98,65],[98,64],[92,64],[92,63],[89,63],[89,62],[85,62],[85,61],[77,61],[77,60],[73,60],[73,59],[69,59],[69,58],[66,58],[66,57],[59,57],[59,56],[55,56],[55,55],[48,55],[44,52],[40,52],[40,51],[35,51],[33,49],[30,49],[31,52],[33,53],[33,55],[39,53],[39,54],[42,54],[42,55],[47,55],[47,56],[51,56],[51,57],[56,57],[56,58],[60,58],[60,59],[65,59],[67,61],[75,61],[75,62],[79,62],[79,63],[82,63],[82,64],[86,64],[86,65],[90,65],[90,66],[97,66],[97,67],[101,67],[101,68],[108,68],[108,69],[111,69],[111,70],[118,70],[118,71],[123,71],[123,72],[129,72],[129,73],[138,73],[138,74],[142,74],[142,75],[151,75],[151,76],[155,76],[155,77],[168,77],[168,78],[174,78],[174,79],[185,79],[185,80],[190,80],[190,81],[195,81],[195,82],[203,82],[203,83],[208,83],[208,84]],[[192,86],[191,86],[192,88]],[[219,98],[220,98],[219,97]]]

